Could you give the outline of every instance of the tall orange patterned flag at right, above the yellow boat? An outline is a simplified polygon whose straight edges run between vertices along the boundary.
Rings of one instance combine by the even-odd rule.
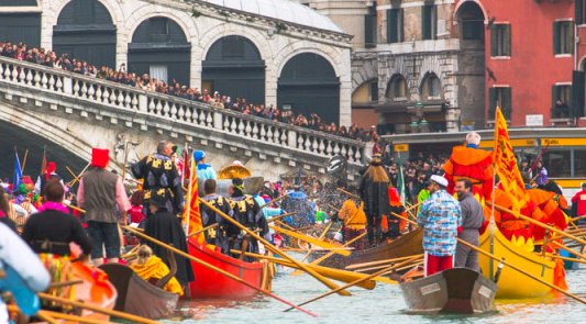
[[[518,213],[529,201],[529,197],[512,150],[507,122],[499,107],[497,107],[495,121],[495,148],[493,150],[495,171],[502,190],[512,201],[512,211]]]

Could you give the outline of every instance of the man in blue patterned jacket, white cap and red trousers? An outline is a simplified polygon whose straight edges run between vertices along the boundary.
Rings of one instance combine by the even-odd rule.
[[[454,267],[457,227],[462,225],[460,203],[445,190],[447,180],[436,175],[430,180],[431,195],[417,214],[417,224],[423,228],[425,277]]]

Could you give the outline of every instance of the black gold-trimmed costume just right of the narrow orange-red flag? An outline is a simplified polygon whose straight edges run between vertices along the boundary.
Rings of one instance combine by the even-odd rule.
[[[204,195],[202,199],[209,202],[214,208],[219,209],[224,214],[229,216],[233,215],[233,211],[228,199],[215,193]],[[230,244],[230,237],[236,237],[240,234],[240,228],[224,220],[224,217],[222,217],[221,215],[218,215],[212,209],[208,208],[207,205],[200,204],[199,208],[201,212],[201,223],[203,227],[208,227],[213,224],[219,224],[217,227],[213,228],[214,231],[206,231],[206,242],[208,242],[208,244],[214,244],[215,246],[220,247],[223,254],[230,254],[231,245],[233,245]]]

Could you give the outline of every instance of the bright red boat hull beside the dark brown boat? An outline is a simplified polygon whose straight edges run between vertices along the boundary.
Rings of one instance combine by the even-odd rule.
[[[244,281],[261,287],[263,265],[261,262],[244,262],[221,253],[199,246],[194,238],[188,241],[189,254],[196,258],[230,272]],[[189,283],[191,299],[223,299],[247,298],[256,294],[256,290],[248,288],[214,270],[191,261],[196,280]]]

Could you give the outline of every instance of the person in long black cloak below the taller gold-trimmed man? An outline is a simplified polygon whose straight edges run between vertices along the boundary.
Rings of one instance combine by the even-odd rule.
[[[156,205],[158,211],[155,214],[150,214],[147,216],[144,234],[163,243],[173,245],[175,248],[188,254],[187,238],[184,228],[181,227],[181,222],[166,208],[166,203],[169,199],[169,197],[166,195],[166,190],[159,189],[157,191],[151,191],[150,197],[150,203]],[[151,242],[147,242],[146,244],[153,249],[153,253],[156,256],[170,267],[167,258],[168,250],[166,248]],[[175,278],[177,278],[181,284],[187,284],[189,281],[194,281],[191,264],[183,256],[175,256],[175,259],[177,261],[177,273],[175,275]]]

